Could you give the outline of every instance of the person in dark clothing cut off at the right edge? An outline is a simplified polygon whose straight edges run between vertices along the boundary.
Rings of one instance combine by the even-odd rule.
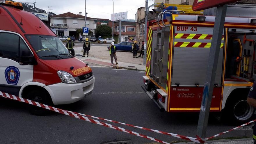
[[[250,89],[250,92],[247,97],[247,102],[249,105],[256,108],[256,82],[253,83],[253,86]],[[253,126],[253,140],[254,140],[254,144],[256,144],[256,122],[254,122],[254,126]]]

